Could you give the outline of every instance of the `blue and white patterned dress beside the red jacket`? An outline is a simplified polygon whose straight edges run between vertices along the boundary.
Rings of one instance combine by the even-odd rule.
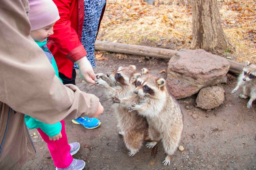
[[[98,32],[98,25],[102,9],[106,0],[84,0],[84,24],[81,43],[83,44],[91,66],[95,67],[94,43]],[[74,64],[74,68],[78,66]]]

